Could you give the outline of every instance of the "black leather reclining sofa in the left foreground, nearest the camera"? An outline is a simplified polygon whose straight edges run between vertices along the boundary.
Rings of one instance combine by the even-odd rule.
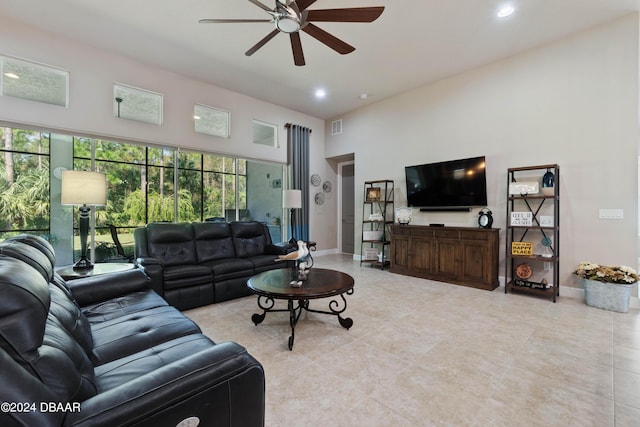
[[[0,243],[0,425],[262,426],[264,371],[141,270],[65,282],[42,238]]]

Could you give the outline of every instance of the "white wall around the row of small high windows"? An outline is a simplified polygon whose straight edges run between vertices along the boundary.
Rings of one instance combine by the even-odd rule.
[[[248,159],[287,162],[285,123],[312,129],[311,168],[326,172],[324,121],[239,93],[159,70],[134,59],[49,34],[0,16],[0,55],[23,58],[70,71],[69,107],[0,97],[0,122],[71,134],[192,148]],[[113,117],[113,83],[160,92],[164,123],[154,126]],[[217,138],[193,130],[193,105],[231,112],[231,137]],[[252,120],[279,126],[278,148],[252,143]],[[326,174],[325,174],[326,175]],[[322,249],[335,248],[335,215],[312,210],[311,235]]]

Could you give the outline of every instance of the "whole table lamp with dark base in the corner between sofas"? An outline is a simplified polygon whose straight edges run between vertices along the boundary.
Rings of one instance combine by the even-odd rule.
[[[80,250],[78,262],[74,270],[91,270],[93,264],[87,259],[87,235],[89,234],[89,205],[104,206],[107,204],[107,177],[99,172],[70,171],[62,172],[63,205],[80,205]]]

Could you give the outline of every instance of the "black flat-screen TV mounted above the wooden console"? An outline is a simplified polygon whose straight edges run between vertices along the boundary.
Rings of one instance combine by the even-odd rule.
[[[462,211],[487,205],[484,156],[406,166],[407,203],[422,211]]]

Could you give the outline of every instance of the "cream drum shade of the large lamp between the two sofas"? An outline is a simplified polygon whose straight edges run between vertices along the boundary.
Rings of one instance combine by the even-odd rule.
[[[106,205],[107,176],[99,172],[62,171],[63,205]]]

